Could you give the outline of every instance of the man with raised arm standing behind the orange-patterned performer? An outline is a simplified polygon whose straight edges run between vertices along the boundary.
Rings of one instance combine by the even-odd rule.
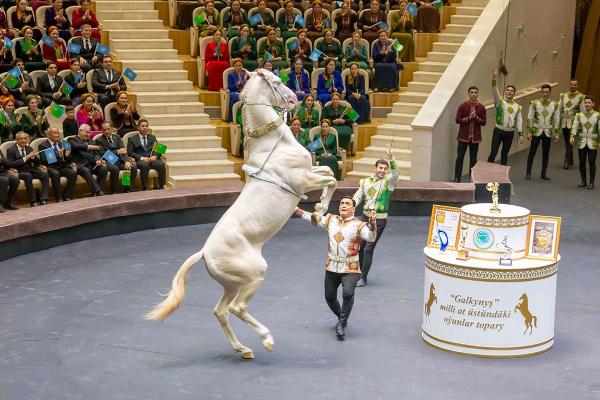
[[[385,229],[392,192],[396,188],[398,178],[400,177],[391,144],[387,145],[386,152],[387,158],[390,160],[389,164],[386,160],[377,160],[373,175],[369,178],[361,179],[358,184],[358,190],[352,196],[356,206],[363,203],[363,215],[360,216],[362,221],[367,221],[371,210],[375,210],[377,217],[377,238],[374,242],[362,242],[360,245],[360,268],[362,274],[356,284],[357,287],[367,285],[367,276],[373,263],[375,246],[377,246],[377,242]],[[386,175],[389,167],[391,167],[392,173]]]

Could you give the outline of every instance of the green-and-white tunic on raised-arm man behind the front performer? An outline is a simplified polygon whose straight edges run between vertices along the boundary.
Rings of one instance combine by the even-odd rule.
[[[390,162],[390,167],[392,173],[384,176],[383,179],[377,179],[373,175],[360,180],[358,190],[354,193],[353,198],[357,207],[364,201],[363,214],[366,216],[369,216],[369,208],[374,207],[377,219],[387,218],[390,198],[400,177],[396,160]]]

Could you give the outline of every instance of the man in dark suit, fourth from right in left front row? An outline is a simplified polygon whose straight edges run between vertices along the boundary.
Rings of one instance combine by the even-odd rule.
[[[75,189],[75,183],[77,183],[77,168],[71,162],[71,152],[65,149],[60,140],[58,129],[48,129],[46,136],[48,136],[48,140],[40,143],[38,146],[38,150],[41,151],[39,154],[40,160],[48,168],[48,175],[52,181],[56,202],[69,201],[73,198],[73,190]],[[50,148],[54,149],[54,155],[56,156],[56,162],[51,164],[48,163],[46,153],[43,152],[43,150]],[[61,176],[67,178],[67,187],[64,192],[60,186]]]

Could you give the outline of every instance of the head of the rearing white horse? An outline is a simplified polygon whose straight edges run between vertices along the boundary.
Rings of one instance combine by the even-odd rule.
[[[262,68],[250,73],[250,79],[244,85],[240,100],[248,104],[269,104],[286,111],[291,111],[298,103],[296,94],[285,86],[279,77]]]

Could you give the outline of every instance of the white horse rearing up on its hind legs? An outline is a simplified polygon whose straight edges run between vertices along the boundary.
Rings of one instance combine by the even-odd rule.
[[[265,349],[272,350],[275,344],[269,329],[248,312],[267,270],[263,244],[285,225],[304,193],[323,189],[315,209],[325,213],[337,183],[328,167],[312,166],[308,151],[283,123],[285,111],[297,103],[294,92],[267,70],[251,75],[240,95],[248,152],[246,184],[204,247],[181,265],[164,301],[146,315],[146,319],[164,320],[175,311],[185,295],[188,271],[204,258],[209,275],[223,286],[214,315],[233,350],[245,359],[254,358],[254,353],[233,332],[230,312],[263,339]]]

